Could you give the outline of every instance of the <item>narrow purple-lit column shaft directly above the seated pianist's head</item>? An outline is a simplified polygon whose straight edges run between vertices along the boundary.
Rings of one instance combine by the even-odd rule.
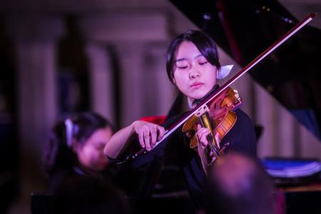
[[[91,109],[115,124],[114,76],[109,52],[103,44],[91,42],[86,46],[86,54],[90,69]]]

